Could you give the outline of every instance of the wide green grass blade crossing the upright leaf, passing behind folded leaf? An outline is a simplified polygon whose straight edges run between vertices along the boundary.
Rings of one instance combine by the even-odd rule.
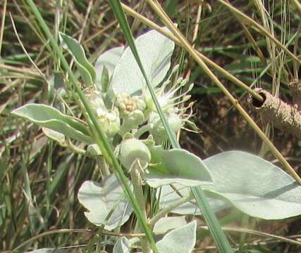
[[[147,74],[145,73],[145,70],[142,66],[140,57],[139,57],[139,55],[137,53],[137,49],[135,47],[133,35],[130,32],[130,26],[128,25],[128,20],[125,18],[125,14],[123,13],[123,8],[121,7],[121,3],[119,0],[110,0],[110,3],[113,8],[113,12],[119,22],[119,25],[121,26],[121,29],[123,30],[125,39],[128,42],[130,49],[132,50],[133,55],[135,56],[135,59],[137,60],[137,64],[139,65],[142,74],[145,76],[145,81],[147,82],[147,87],[149,89],[149,92],[152,95],[152,99],[154,100],[156,109],[159,112],[162,123],[164,124],[164,128],[166,129],[169,140],[171,141],[171,145],[173,146],[173,148],[180,148],[180,145],[179,145],[178,141],[176,140],[175,135],[171,131],[170,127],[168,126],[168,123],[164,117],[164,113],[161,110],[158,100],[156,99],[156,95],[154,94],[152,86],[149,83]],[[209,206],[209,202],[207,200],[207,197],[204,195],[204,191],[202,190],[202,188],[201,187],[192,188],[192,193],[195,195],[195,200],[197,200],[199,209],[201,209],[204,219],[209,226],[209,229],[216,242],[216,246],[218,247],[219,252],[222,252],[222,253],[233,252],[231,249],[231,245],[226,238],[225,233],[223,233],[223,231],[221,229],[219,221],[216,219],[214,212],[211,210],[211,207]]]

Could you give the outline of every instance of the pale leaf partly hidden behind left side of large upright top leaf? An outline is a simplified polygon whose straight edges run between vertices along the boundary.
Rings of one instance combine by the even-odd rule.
[[[116,48],[111,48],[108,51],[105,51],[104,53],[102,53],[102,55],[99,56],[95,63],[96,84],[99,87],[102,87],[102,71],[104,70],[104,66],[106,66],[106,70],[108,70],[109,74],[109,79],[111,79],[123,51],[124,46],[118,46]]]

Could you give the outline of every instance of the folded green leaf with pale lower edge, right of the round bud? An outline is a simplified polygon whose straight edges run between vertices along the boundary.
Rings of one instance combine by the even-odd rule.
[[[174,148],[164,150],[161,146],[151,148],[152,161],[145,179],[153,188],[180,183],[183,186],[212,184],[211,175],[199,157],[187,150]]]

